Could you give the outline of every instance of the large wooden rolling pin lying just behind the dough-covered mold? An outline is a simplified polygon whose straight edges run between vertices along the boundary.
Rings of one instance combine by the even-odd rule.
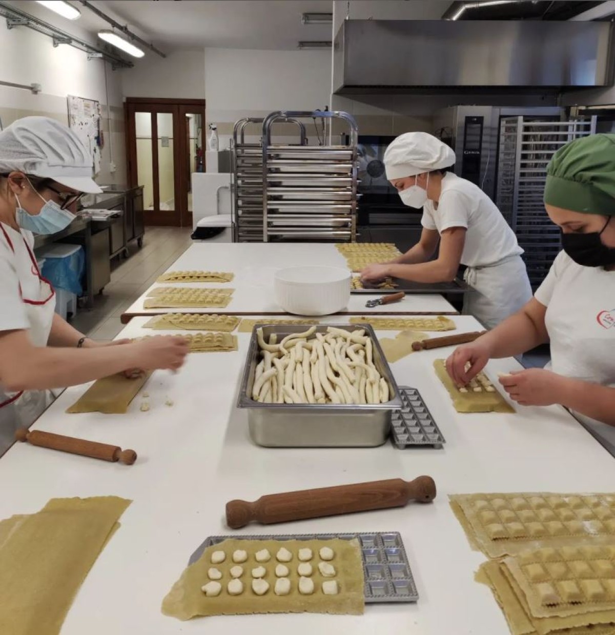
[[[435,483],[430,476],[419,476],[414,481],[398,478],[316,490],[288,491],[261,496],[253,503],[231,500],[227,503],[227,525],[232,529],[239,529],[251,521],[263,525],[288,523],[305,518],[403,507],[410,500],[428,503],[433,498]]]

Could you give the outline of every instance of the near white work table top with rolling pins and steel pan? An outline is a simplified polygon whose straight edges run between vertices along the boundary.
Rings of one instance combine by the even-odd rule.
[[[453,318],[460,331],[475,319]],[[334,322],[339,319],[327,318]],[[118,337],[164,333],[135,318]],[[378,337],[394,337],[379,331]],[[433,333],[432,337],[437,337]],[[615,483],[615,462],[562,408],[524,408],[517,414],[458,414],[432,363],[452,349],[413,353],[392,365],[399,384],[419,389],[446,438],[444,447],[268,449],[248,436],[247,415],[235,408],[248,333],[239,351],[189,356],[177,374],[150,378],[150,410],[138,396],[127,415],[67,415],[84,387],[65,391],[34,426],[133,448],[125,466],[20,444],[0,459],[0,518],[35,512],[53,497],[117,495],[134,502],[88,574],[62,635],[505,635],[491,592],[473,575],[486,558],[470,549],[447,496],[480,491],[600,491]],[[487,374],[519,368],[491,361]],[[164,405],[166,398],[175,401]],[[162,598],[210,535],[231,533],[225,503],[266,493],[429,474],[432,504],[314,519],[249,525],[238,533],[400,531],[420,593],[416,604],[367,605],[365,614],[255,615],[180,622],[160,611]]]

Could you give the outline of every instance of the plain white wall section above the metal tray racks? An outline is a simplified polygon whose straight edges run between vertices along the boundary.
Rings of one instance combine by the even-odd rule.
[[[206,48],[205,98],[208,123],[218,124],[227,148],[242,117],[331,108],[331,53]]]

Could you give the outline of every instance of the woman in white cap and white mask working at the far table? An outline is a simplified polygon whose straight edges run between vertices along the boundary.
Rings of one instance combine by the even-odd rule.
[[[406,205],[423,208],[423,232],[411,250],[370,265],[361,277],[438,283],[453,280],[459,265],[466,265],[465,279],[474,291],[466,293],[463,312],[493,328],[532,297],[523,250],[493,201],[446,171],[454,163],[453,150],[425,132],[400,135],[389,145],[387,178]],[[430,262],[438,243],[438,257]]]

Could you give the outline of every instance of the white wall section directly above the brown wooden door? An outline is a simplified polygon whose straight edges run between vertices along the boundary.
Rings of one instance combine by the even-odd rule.
[[[202,99],[205,96],[203,50],[169,53],[162,58],[147,53],[135,60],[135,67],[124,69],[124,97],[161,97],[166,99]]]

